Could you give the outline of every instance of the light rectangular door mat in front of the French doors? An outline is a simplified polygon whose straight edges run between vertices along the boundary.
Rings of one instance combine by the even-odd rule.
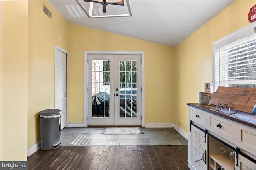
[[[104,135],[108,134],[142,134],[142,128],[140,127],[107,127],[102,132]]]

